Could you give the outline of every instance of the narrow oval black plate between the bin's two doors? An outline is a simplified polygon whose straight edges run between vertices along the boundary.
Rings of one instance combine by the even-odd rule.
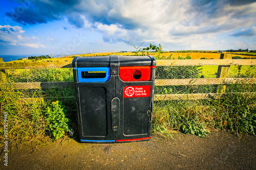
[[[111,100],[111,127],[116,131],[120,126],[120,100],[113,98]]]

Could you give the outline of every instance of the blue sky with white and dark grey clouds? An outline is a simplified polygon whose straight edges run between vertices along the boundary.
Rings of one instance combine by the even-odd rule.
[[[1,55],[256,50],[251,0],[2,0],[0,15]]]

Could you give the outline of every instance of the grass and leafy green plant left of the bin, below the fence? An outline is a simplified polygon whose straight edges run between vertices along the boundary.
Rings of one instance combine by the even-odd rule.
[[[27,143],[33,141],[41,141],[42,138],[51,137],[52,140],[58,140],[63,135],[68,135],[71,129],[75,128],[74,115],[75,100],[70,98],[62,98],[62,103],[58,101],[61,94],[56,94],[56,89],[47,91],[42,90],[15,90],[12,88],[1,89],[1,126],[0,139],[4,138],[4,113],[8,113],[8,138],[10,143]],[[69,90],[69,93],[72,90]],[[66,94],[63,91],[63,94]],[[24,98],[42,97],[45,94],[53,100],[24,100]],[[62,97],[63,95],[61,95]],[[56,101],[56,102],[54,102]],[[65,104],[65,105],[64,105]],[[47,141],[47,140],[46,140]],[[0,144],[0,146],[3,143]]]

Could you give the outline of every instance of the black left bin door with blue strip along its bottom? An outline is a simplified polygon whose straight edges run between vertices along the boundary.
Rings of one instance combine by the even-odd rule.
[[[111,99],[114,77],[106,82],[76,83],[79,137],[81,142],[114,142],[111,124]]]

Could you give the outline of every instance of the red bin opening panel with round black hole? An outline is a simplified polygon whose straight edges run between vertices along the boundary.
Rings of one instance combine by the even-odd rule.
[[[119,67],[119,76],[122,81],[151,80],[151,66]]]

